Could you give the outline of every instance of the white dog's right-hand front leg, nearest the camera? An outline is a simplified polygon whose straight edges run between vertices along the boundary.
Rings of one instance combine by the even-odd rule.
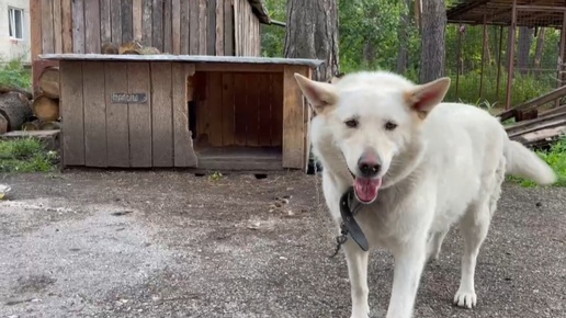
[[[395,270],[387,318],[410,318],[427,257],[427,238],[411,239],[394,251]]]

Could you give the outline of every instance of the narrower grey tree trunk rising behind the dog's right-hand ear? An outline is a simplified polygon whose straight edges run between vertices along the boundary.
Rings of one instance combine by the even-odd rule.
[[[444,76],[446,9],[444,0],[422,1],[420,82]]]

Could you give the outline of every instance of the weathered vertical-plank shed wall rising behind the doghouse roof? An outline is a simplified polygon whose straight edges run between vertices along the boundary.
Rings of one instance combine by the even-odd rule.
[[[31,0],[33,87],[43,54],[101,54],[137,41],[176,55],[259,56],[262,0]]]

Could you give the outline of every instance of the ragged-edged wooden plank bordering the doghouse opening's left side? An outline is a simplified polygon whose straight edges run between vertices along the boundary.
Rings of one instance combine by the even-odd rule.
[[[185,99],[186,78],[194,73],[194,67],[176,64],[172,73],[174,167],[197,167],[189,132],[189,109]]]

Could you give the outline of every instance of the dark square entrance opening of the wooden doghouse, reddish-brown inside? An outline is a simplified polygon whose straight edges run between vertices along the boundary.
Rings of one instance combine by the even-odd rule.
[[[191,98],[189,125],[200,168],[281,169],[281,72],[195,72],[188,79]]]

